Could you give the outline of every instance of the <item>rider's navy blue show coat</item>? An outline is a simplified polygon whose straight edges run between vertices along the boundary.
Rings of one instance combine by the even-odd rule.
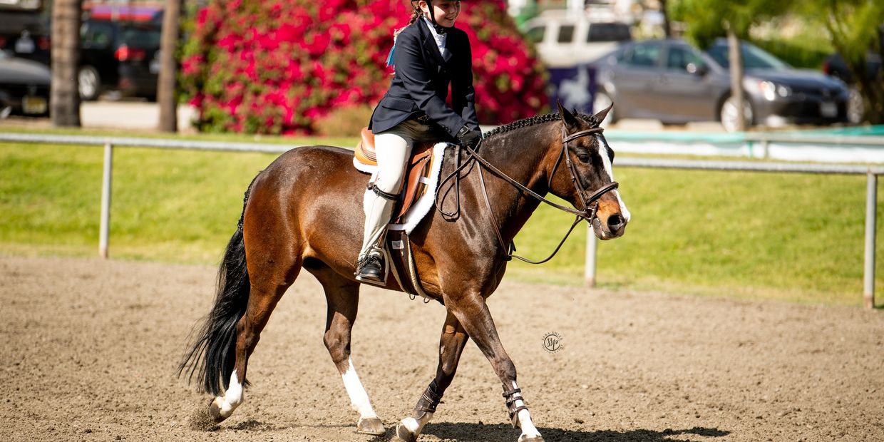
[[[442,57],[430,27],[423,19],[408,25],[396,37],[395,73],[387,93],[371,114],[374,133],[391,129],[410,118],[426,114],[446,133],[456,137],[464,125],[479,130],[476,90],[473,88],[473,54],[469,37],[461,29],[447,29],[448,59]],[[446,104],[451,83],[452,107]]]

